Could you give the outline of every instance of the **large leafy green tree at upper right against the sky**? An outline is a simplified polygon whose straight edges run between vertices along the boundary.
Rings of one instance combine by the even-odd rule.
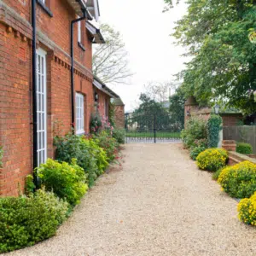
[[[165,0],[170,3],[170,0]],[[177,21],[173,36],[188,49],[190,61],[180,73],[185,96],[201,105],[212,99],[254,113],[256,45],[248,38],[256,28],[254,0],[187,0],[188,14]],[[200,9],[200,11],[198,11]]]

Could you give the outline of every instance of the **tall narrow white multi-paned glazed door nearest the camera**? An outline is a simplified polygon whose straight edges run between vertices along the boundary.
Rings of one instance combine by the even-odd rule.
[[[47,160],[46,52],[37,50],[38,166]]]

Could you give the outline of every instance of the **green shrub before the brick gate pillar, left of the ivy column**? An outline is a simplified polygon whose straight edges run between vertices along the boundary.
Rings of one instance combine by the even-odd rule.
[[[191,117],[182,131],[183,144],[186,148],[195,147],[195,141],[207,139],[207,121],[199,117]]]

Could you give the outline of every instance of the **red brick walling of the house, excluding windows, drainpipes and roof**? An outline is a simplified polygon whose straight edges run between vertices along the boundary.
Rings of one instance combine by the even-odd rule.
[[[31,1],[3,0],[9,9],[0,7],[0,145],[3,145],[3,168],[0,169],[0,196],[18,195],[25,177],[32,173],[32,28]],[[37,5],[38,47],[47,51],[48,157],[54,157],[53,137],[56,121],[62,134],[71,127],[70,21],[76,18],[66,1],[48,0],[50,18]],[[20,15],[20,16],[19,16]],[[23,18],[20,20],[20,17]],[[84,23],[84,22],[83,22]],[[94,94],[91,73],[91,44],[84,32],[84,52],[74,28],[75,90],[84,94],[84,124],[89,131]],[[42,36],[42,32],[44,35]],[[49,41],[53,41],[50,43]],[[56,46],[58,45],[58,46]],[[79,64],[78,64],[79,63]],[[102,95],[103,97],[106,96]],[[109,97],[107,96],[109,99]],[[101,96],[100,96],[101,99]],[[101,100],[101,101],[102,101]],[[102,109],[102,102],[100,108]]]

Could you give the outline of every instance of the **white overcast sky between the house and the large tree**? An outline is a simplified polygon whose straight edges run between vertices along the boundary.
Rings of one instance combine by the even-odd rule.
[[[180,4],[162,13],[164,0],[99,0],[100,21],[121,32],[129,65],[135,75],[129,85],[112,89],[125,102],[125,111],[131,111],[138,102],[143,85],[150,81],[165,82],[183,69],[184,49],[173,45],[170,37],[174,22],[185,14]]]

